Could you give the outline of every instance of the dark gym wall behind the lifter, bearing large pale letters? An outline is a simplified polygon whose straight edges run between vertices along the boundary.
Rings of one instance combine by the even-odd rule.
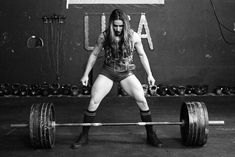
[[[89,17],[89,46],[101,31],[101,16],[122,8],[138,30],[145,13],[153,49],[142,39],[157,84],[207,84],[235,86],[235,2],[213,0],[226,43],[209,0],[167,0],[163,5],[69,5],[66,0],[4,1],[0,5],[0,82],[40,83],[56,81],[56,54],[47,39],[43,16],[64,15],[63,40],[59,51],[61,83],[78,83],[90,51],[85,47],[84,17]],[[146,30],[142,30],[145,34]],[[27,48],[27,39],[39,36],[43,48]],[[49,56],[51,55],[51,57]],[[135,55],[137,77],[146,83],[145,72]],[[94,78],[102,64],[102,54],[94,68]]]

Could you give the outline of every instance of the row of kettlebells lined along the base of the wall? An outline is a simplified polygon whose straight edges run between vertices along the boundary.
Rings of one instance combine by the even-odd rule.
[[[208,85],[152,85],[143,84],[145,96],[224,96],[235,95],[235,87],[216,86],[215,89],[209,91]],[[121,88],[117,87],[118,96],[128,96]],[[61,84],[57,81],[48,83],[42,82],[38,84],[26,83],[0,83],[1,96],[89,96],[91,93],[91,85],[83,86],[79,84]]]

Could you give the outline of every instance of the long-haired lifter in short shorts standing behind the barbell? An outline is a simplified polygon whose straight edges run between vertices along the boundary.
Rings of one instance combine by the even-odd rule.
[[[150,85],[155,84],[148,58],[145,54],[140,36],[130,29],[127,14],[120,9],[115,9],[109,18],[108,28],[99,35],[94,50],[89,56],[87,66],[81,82],[88,85],[89,73],[93,68],[98,54],[104,49],[105,61],[101,73],[95,80],[91,89],[91,99],[87,111],[84,113],[84,123],[94,121],[96,110],[102,99],[109,93],[113,82],[119,82],[122,88],[133,97],[140,109],[143,122],[151,122],[151,112],[144,96],[140,81],[133,74],[133,53],[137,52],[140,61],[148,75]],[[161,147],[162,142],[158,139],[153,126],[146,125],[147,142],[153,146]],[[90,126],[83,126],[82,132],[72,148],[76,149],[88,143],[88,131]]]

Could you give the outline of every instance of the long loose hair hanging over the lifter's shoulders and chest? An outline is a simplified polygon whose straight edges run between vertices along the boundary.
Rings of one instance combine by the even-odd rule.
[[[113,23],[115,20],[122,20],[123,21],[123,32],[121,36],[121,40],[119,42],[119,50],[121,50],[121,54],[114,54],[117,51],[117,42],[115,41],[115,33],[113,29]],[[130,33],[130,22],[127,14],[121,9],[115,9],[112,11],[110,18],[109,18],[109,25],[108,28],[105,30],[105,42],[104,48],[106,50],[111,50],[112,55],[114,56],[123,56],[126,57],[130,55],[130,40],[131,40],[131,33]]]

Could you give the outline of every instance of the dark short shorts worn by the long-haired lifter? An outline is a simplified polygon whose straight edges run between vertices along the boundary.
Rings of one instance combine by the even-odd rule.
[[[120,82],[128,76],[134,75],[134,73],[130,70],[125,72],[117,72],[112,67],[108,67],[106,65],[103,66],[103,69],[100,74],[108,77],[114,82]]]

